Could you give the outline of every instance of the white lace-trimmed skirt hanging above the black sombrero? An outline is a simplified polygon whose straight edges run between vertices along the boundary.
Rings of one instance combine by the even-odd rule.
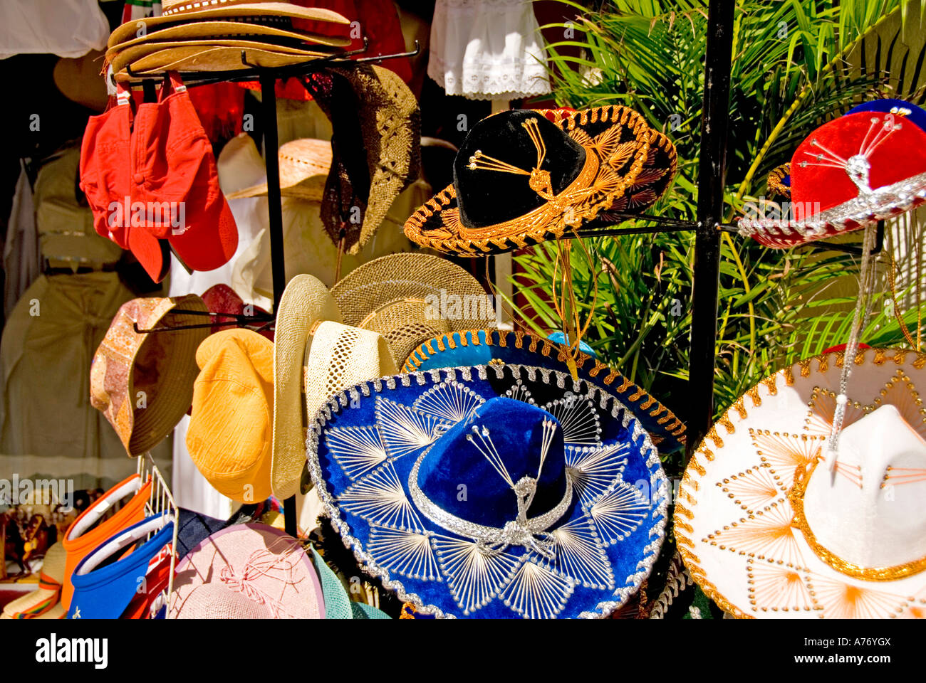
[[[437,0],[428,75],[472,100],[549,93],[543,42],[530,0]]]

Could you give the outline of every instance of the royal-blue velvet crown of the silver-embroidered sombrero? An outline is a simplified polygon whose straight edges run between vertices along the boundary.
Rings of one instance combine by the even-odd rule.
[[[570,491],[556,417],[504,397],[489,399],[449,428],[421,456],[412,477],[440,510],[469,524],[507,528],[526,544],[545,530],[531,520],[557,508]]]

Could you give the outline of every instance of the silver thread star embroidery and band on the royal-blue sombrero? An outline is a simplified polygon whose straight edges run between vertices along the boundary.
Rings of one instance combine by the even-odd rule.
[[[520,380],[500,395],[537,405]],[[577,587],[601,590],[603,598],[615,590],[607,547],[630,536],[651,506],[622,479],[630,444],[600,442],[599,416],[589,397],[544,404],[556,419],[544,418],[536,477],[517,481],[507,471],[504,453],[495,449],[491,431],[478,424],[475,411],[485,399],[464,382],[445,379],[410,407],[382,396],[375,401],[375,425],[329,428],[326,439],[352,481],[337,503],[369,524],[366,552],[377,565],[402,577],[444,582],[463,615],[497,600],[525,618],[552,618]],[[468,425],[467,445],[482,453],[516,496],[518,516],[504,527],[452,515],[419,489],[421,461],[444,431],[460,422]],[[563,434],[567,489],[553,508],[528,517],[557,429]],[[393,463],[409,455],[415,465],[403,482]],[[572,503],[573,512],[562,520]]]

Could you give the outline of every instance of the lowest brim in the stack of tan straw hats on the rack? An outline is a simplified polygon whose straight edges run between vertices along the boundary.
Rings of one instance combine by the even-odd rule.
[[[255,48],[212,47],[204,50],[198,47],[170,47],[138,59],[132,63],[131,68],[140,76],[162,71],[234,71],[248,68],[242,63],[243,52],[248,64],[265,68],[301,64],[323,56],[284,54]],[[131,78],[128,69],[122,69],[116,74],[117,81],[130,81]]]

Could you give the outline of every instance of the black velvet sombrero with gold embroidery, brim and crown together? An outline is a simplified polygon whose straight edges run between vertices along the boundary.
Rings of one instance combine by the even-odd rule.
[[[668,188],[675,148],[632,109],[546,115],[508,111],[473,126],[453,184],[408,218],[408,239],[465,256],[505,252],[559,239],[611,208],[639,210]]]

